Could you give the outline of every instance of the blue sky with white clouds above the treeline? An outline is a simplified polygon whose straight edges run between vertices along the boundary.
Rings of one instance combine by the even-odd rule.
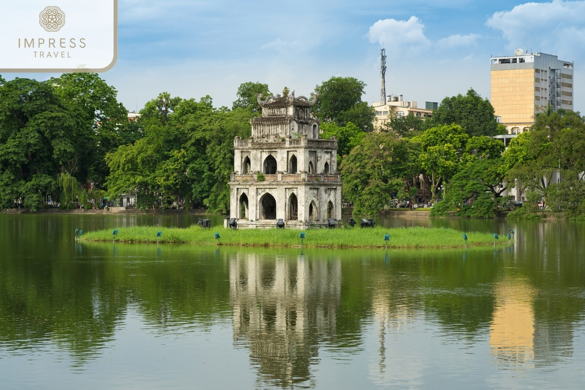
[[[58,3],[58,0],[55,1]],[[380,49],[387,94],[441,102],[474,88],[490,97],[490,56],[529,52],[575,61],[574,108],[585,112],[585,1],[119,0],[118,62],[102,77],[129,111],[163,91],[210,95],[232,106],[242,82],[297,96],[333,76],[364,81],[380,101]],[[4,74],[46,80],[55,74]]]

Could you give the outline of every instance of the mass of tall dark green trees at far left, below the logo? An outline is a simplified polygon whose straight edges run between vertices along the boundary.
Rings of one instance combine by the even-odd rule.
[[[97,74],[0,80],[0,208],[36,210],[59,199],[61,172],[99,187],[109,173],[105,154],[139,137]]]

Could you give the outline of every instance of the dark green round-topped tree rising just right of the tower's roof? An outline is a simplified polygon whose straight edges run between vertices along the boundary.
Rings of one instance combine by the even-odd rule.
[[[374,109],[362,102],[366,84],[353,77],[332,77],[315,87],[314,115],[323,122],[344,127],[352,122],[365,132],[373,131]]]

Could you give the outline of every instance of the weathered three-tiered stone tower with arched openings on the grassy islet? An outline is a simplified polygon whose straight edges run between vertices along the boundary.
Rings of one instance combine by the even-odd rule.
[[[236,137],[230,178],[230,218],[238,227],[305,229],[341,219],[341,178],[337,140],[319,137],[319,120],[311,118],[315,96],[268,96],[258,103],[262,115],[250,120],[252,137]]]

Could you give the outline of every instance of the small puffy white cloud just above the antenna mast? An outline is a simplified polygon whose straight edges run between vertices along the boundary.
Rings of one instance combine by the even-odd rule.
[[[378,42],[388,50],[419,51],[431,46],[431,41],[423,32],[424,28],[425,25],[416,16],[408,20],[384,19],[370,27],[368,37],[371,43]]]

